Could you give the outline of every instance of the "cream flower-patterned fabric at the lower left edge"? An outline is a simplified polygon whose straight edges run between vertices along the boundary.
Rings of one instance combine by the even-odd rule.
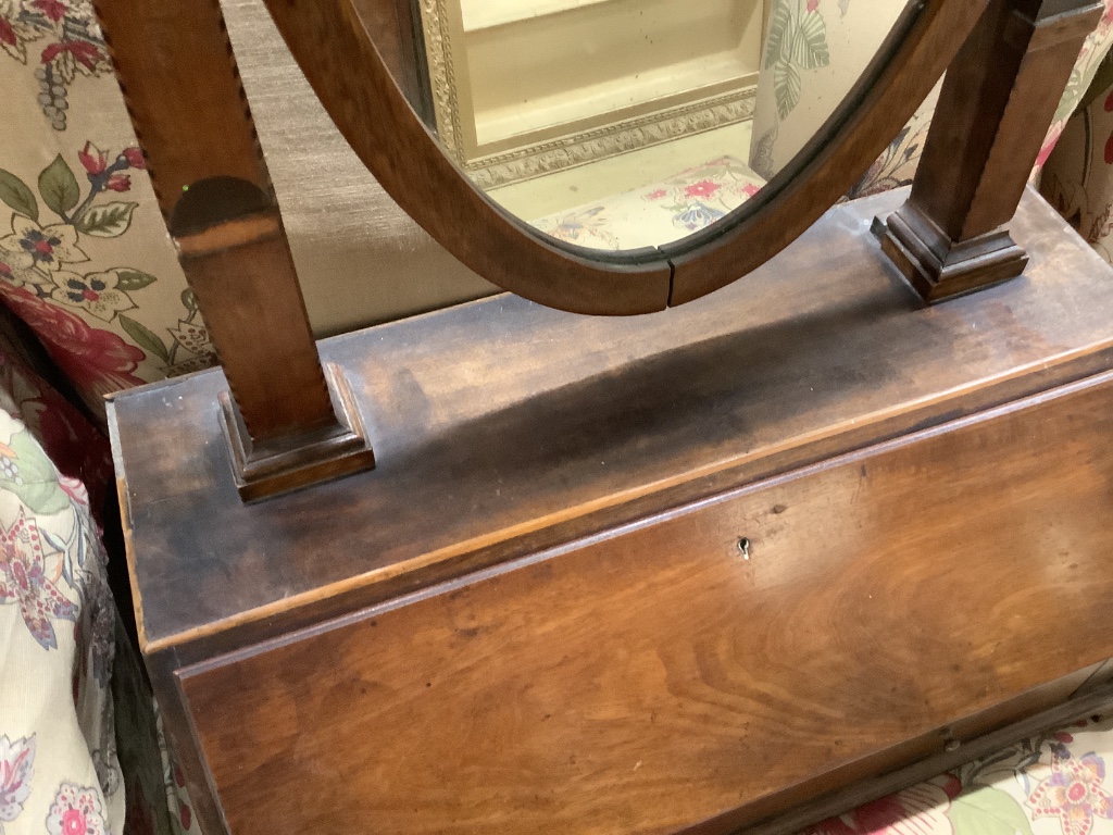
[[[118,834],[105,554],[83,485],[11,415],[13,391],[0,391],[0,833]]]

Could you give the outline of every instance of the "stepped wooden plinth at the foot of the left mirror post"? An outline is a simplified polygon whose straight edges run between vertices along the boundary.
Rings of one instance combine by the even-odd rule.
[[[375,455],[344,372],[333,363],[325,363],[324,371],[337,422],[280,442],[255,444],[235,401],[228,392],[219,394],[220,423],[228,442],[233,477],[245,502],[375,466]]]

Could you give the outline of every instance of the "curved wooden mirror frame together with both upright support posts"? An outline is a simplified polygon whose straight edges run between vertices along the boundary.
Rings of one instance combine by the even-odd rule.
[[[356,0],[265,0],[356,154],[461,262],[541,304],[631,315],[760,266],[838,202],[948,67],[908,203],[876,232],[928,302],[1018,275],[1006,228],[1099,0],[922,0],[788,169],[707,230],[614,255],[506,215],[437,146]],[[97,14],[171,237],[228,380],[245,500],[374,466],[359,406],[321,365],[218,0],[99,0]],[[193,189],[193,194],[190,194]],[[435,196],[435,199],[431,199]]]

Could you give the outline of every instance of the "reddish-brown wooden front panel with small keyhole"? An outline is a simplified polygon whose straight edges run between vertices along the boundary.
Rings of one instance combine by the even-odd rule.
[[[1111,522],[1106,376],[181,685],[236,835],[733,825],[1113,656]]]

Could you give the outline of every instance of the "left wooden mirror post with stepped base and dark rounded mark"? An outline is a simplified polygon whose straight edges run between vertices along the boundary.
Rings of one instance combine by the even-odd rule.
[[[219,3],[96,0],[147,168],[224,366],[245,501],[374,466],[323,366]]]

